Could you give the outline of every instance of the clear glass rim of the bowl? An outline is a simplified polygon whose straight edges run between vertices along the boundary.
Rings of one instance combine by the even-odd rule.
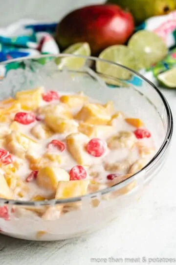
[[[143,167],[140,171],[138,171],[137,173],[133,174],[131,177],[129,177],[128,179],[113,185],[111,187],[93,192],[93,193],[89,193],[86,194],[84,196],[79,196],[79,197],[73,197],[73,198],[69,198],[69,199],[60,199],[60,200],[45,200],[45,201],[20,201],[20,200],[8,200],[8,199],[3,199],[0,198],[0,205],[3,204],[12,204],[12,205],[20,205],[20,206],[34,206],[34,207],[39,207],[39,206],[45,206],[45,205],[59,205],[59,204],[69,204],[69,203],[73,203],[73,202],[79,202],[82,201],[84,199],[88,199],[88,198],[95,198],[99,195],[104,195],[107,194],[109,192],[113,192],[117,189],[123,188],[124,186],[130,184],[134,179],[137,178],[137,176],[140,176],[141,173],[143,173],[145,170],[149,170],[151,169],[154,164],[157,162],[157,160],[161,159],[161,157],[164,155],[165,151],[167,150],[168,146],[170,145],[171,142],[171,138],[172,138],[172,134],[173,134],[173,115],[171,112],[171,108],[165,98],[165,96],[160,92],[160,90],[148,79],[146,79],[144,76],[142,76],[141,74],[135,72],[134,70],[123,66],[119,63],[115,63],[115,62],[111,62],[109,60],[104,60],[104,59],[100,59],[98,57],[94,57],[94,56],[82,56],[82,55],[75,55],[75,54],[66,54],[66,53],[60,53],[60,54],[44,54],[44,55],[36,55],[36,56],[26,56],[26,57],[21,57],[21,58],[17,58],[17,59],[12,59],[12,60],[8,60],[8,61],[4,61],[0,63],[1,65],[8,65],[12,62],[22,62],[22,61],[26,61],[26,60],[36,60],[36,59],[40,59],[40,58],[45,58],[45,57],[53,57],[53,58],[57,58],[57,57],[78,57],[78,58],[85,58],[88,60],[92,60],[92,61],[102,61],[102,62],[107,62],[113,65],[117,65],[119,67],[122,67],[126,70],[129,70],[131,73],[135,74],[137,77],[139,77],[142,80],[145,80],[150,86],[153,87],[153,89],[157,92],[158,96],[160,97],[160,99],[162,100],[165,109],[166,109],[166,113],[167,113],[167,117],[168,117],[168,123],[167,123],[167,132],[164,138],[164,141],[162,143],[162,145],[160,146],[158,152],[155,154],[154,158],[152,160],[150,160],[150,162]]]

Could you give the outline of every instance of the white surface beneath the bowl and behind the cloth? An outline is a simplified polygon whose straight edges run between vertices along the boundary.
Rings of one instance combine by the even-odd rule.
[[[1,2],[4,12],[0,15],[0,27],[19,18],[59,20],[69,9],[93,2],[101,0],[38,0],[37,3],[36,0],[6,0]],[[22,3],[25,5],[23,11]],[[58,11],[53,6],[58,6]],[[162,89],[162,92],[176,120],[176,90]],[[135,208],[128,209],[106,229],[87,237],[60,242],[34,242],[0,236],[0,265],[90,265],[93,264],[91,258],[110,257],[176,258],[175,149],[174,131],[170,154],[162,171],[150,183]]]

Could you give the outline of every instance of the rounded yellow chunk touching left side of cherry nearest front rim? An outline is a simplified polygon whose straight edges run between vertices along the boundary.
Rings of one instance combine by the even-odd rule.
[[[69,181],[69,174],[66,170],[59,167],[44,167],[39,170],[37,175],[37,184],[50,190],[56,192],[59,181]]]

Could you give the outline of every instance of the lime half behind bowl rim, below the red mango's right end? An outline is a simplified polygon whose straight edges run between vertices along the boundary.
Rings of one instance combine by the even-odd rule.
[[[99,58],[119,63],[133,70],[138,69],[137,61],[133,51],[124,45],[113,45],[108,47],[102,53],[100,53]],[[98,73],[107,75],[110,78],[124,80],[131,78],[131,72],[129,70],[121,66],[111,64],[110,62],[96,61],[96,70]],[[110,79],[109,82],[111,83]]]

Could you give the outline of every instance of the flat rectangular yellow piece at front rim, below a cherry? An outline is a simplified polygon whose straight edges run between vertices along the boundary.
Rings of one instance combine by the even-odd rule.
[[[55,199],[83,196],[88,189],[89,180],[60,181]]]

